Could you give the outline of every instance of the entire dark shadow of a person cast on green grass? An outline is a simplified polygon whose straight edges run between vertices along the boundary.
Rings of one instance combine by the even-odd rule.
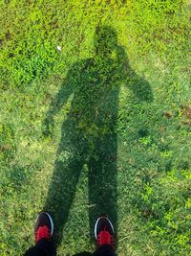
[[[73,64],[45,120],[45,132],[49,134],[53,128],[53,116],[72,96],[70,110],[61,128],[53,179],[44,206],[44,210],[53,215],[57,245],[61,242],[63,227],[85,164],[89,170],[91,233],[99,215],[107,215],[117,230],[117,112],[120,85],[129,84],[138,101],[151,102],[153,99],[150,85],[131,69],[111,27],[97,26],[94,43],[94,58]]]

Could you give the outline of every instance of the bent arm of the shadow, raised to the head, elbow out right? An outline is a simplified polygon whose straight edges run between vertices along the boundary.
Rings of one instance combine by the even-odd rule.
[[[121,80],[133,92],[138,102],[153,102],[153,92],[148,81],[131,68],[129,60],[123,47],[117,47],[117,61],[122,63]]]

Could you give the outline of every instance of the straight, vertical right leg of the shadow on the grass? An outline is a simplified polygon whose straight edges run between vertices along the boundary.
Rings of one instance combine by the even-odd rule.
[[[91,237],[97,217],[107,216],[117,237],[117,134],[96,139],[89,159],[89,221]]]

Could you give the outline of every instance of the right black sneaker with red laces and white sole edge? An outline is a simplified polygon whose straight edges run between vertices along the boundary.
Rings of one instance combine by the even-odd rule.
[[[95,224],[95,237],[97,246],[109,244],[115,247],[114,227],[112,222],[105,216],[99,217]]]

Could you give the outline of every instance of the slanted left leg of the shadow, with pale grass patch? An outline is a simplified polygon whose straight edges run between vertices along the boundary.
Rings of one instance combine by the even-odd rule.
[[[82,145],[83,144],[83,145]],[[56,246],[61,244],[63,228],[68,221],[76,185],[84,164],[84,142],[76,132],[73,118],[64,122],[62,137],[54,163],[53,177],[44,210],[53,216]]]

